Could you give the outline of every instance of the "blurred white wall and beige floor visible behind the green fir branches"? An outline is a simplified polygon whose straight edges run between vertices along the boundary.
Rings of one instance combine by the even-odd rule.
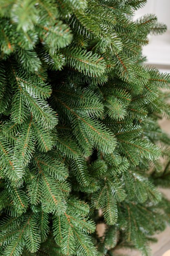
[[[149,44],[143,47],[143,55],[147,56],[146,65],[157,67],[162,72],[170,73],[170,0],[148,0],[145,7],[139,9],[134,20],[147,13],[157,15],[158,21],[168,27],[166,33],[159,36],[149,36]],[[162,119],[161,128],[170,135],[170,120]],[[160,189],[170,200],[170,189]],[[103,234],[104,225],[97,228],[99,234]],[[155,235],[157,244],[151,244],[152,256],[170,256],[170,227],[161,234]],[[119,250],[120,254],[129,256],[142,256],[140,252],[131,250]],[[165,255],[164,255],[165,254]]]

